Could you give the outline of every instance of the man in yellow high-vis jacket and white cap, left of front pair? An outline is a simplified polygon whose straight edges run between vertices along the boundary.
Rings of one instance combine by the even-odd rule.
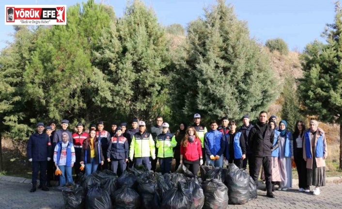
[[[155,159],[155,141],[152,134],[146,132],[146,124],[144,121],[139,121],[139,132],[133,135],[131,145],[129,146],[129,160],[135,158],[135,166],[145,165],[151,170],[151,160]]]

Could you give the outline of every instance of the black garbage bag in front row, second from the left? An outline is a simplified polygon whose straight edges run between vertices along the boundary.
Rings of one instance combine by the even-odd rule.
[[[88,191],[86,209],[112,209],[109,193],[101,189],[100,184]]]

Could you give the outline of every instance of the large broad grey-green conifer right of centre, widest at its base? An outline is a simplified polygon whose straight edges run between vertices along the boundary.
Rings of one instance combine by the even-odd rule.
[[[190,22],[185,48],[185,56],[175,61],[172,101],[186,115],[202,113],[209,120],[249,113],[254,118],[277,96],[264,49],[249,38],[247,23],[225,0]]]

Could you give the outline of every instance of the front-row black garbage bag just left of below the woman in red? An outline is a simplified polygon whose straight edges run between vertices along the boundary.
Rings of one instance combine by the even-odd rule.
[[[163,197],[162,209],[191,209],[192,197],[189,190],[185,189],[186,182],[178,182]]]

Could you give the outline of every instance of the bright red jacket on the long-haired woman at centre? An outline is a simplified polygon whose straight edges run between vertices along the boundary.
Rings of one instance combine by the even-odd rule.
[[[181,145],[181,155],[183,155],[183,160],[187,161],[197,161],[202,158],[201,140],[196,138],[193,143],[187,141],[186,147]]]

